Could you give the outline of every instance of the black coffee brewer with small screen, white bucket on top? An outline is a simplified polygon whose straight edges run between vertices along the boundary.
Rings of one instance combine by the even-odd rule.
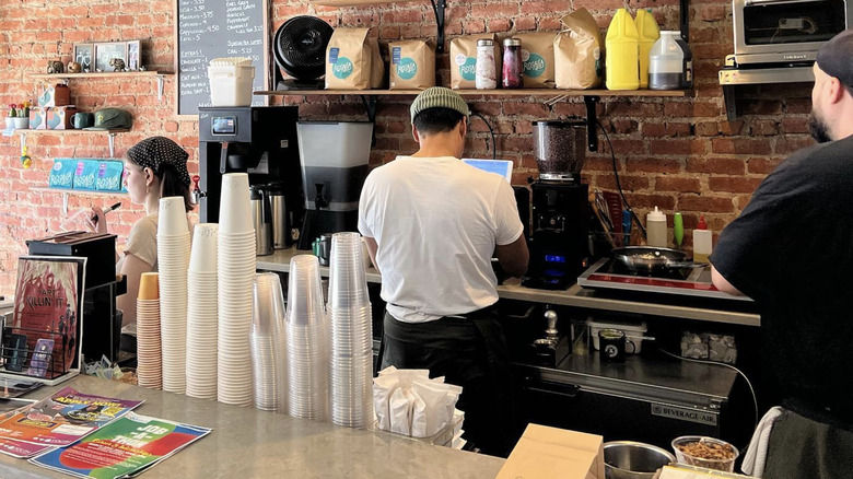
[[[274,184],[277,194],[283,197],[277,198],[271,227],[295,227],[302,219],[299,107],[202,107],[198,118],[201,222],[219,221],[222,175],[248,173],[249,185]],[[293,244],[293,235],[287,233],[277,247]]]

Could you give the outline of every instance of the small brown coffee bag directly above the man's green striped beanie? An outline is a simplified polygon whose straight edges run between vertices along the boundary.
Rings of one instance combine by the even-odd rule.
[[[435,52],[423,40],[388,44],[392,90],[424,90],[435,86]]]

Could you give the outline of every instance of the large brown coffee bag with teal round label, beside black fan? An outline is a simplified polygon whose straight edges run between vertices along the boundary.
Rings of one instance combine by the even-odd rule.
[[[370,28],[335,28],[326,47],[326,90],[371,87]]]

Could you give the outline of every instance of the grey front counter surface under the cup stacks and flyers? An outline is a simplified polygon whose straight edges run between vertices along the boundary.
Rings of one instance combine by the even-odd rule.
[[[212,428],[206,437],[144,472],[155,478],[493,478],[504,459],[432,446],[383,432],[223,405],[124,383],[78,376],[61,387],[126,399],[144,399],[137,412]],[[67,478],[0,455],[0,478]]]

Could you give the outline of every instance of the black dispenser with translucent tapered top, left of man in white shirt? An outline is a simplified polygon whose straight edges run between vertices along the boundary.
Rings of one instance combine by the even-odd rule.
[[[296,124],[305,191],[305,219],[299,249],[312,249],[323,234],[358,231],[359,197],[370,173],[373,124]]]

